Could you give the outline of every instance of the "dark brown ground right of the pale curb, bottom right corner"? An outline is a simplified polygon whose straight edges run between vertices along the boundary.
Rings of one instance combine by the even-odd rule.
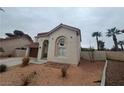
[[[124,86],[124,62],[108,61],[106,85]]]

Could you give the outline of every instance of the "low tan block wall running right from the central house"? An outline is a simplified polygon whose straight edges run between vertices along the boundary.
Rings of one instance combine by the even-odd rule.
[[[106,56],[109,59],[113,60],[119,60],[124,61],[124,51],[82,51],[81,57],[86,60],[91,60],[91,58],[94,58],[94,60],[105,60]]]

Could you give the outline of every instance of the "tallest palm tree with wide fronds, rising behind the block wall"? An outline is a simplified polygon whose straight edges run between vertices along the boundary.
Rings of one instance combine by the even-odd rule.
[[[120,30],[116,29],[116,27],[108,29],[106,36],[112,37],[115,45],[115,50],[118,50],[118,42],[116,35],[121,34]]]

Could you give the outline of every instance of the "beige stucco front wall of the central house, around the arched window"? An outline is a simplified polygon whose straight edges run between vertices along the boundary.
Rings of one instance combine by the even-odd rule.
[[[60,36],[66,37],[67,40],[66,53],[65,53],[66,56],[63,57],[55,55],[55,42],[56,39]],[[78,64],[78,62],[80,61],[80,36],[79,35],[77,36],[75,31],[70,31],[65,28],[60,28],[57,31],[53,32],[49,37],[39,38],[38,42],[40,48],[38,51],[38,60],[41,60],[42,43],[45,39],[49,40],[48,57],[47,57],[48,61],[58,62],[58,63]]]

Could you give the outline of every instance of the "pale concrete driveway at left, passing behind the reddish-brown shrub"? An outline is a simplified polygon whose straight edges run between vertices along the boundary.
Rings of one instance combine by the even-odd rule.
[[[0,64],[5,64],[8,67],[11,66],[15,66],[15,65],[19,65],[22,63],[22,58],[23,57],[12,57],[12,58],[4,58],[4,59],[0,59]],[[34,62],[35,63],[36,59],[35,58],[31,58],[30,62]]]

